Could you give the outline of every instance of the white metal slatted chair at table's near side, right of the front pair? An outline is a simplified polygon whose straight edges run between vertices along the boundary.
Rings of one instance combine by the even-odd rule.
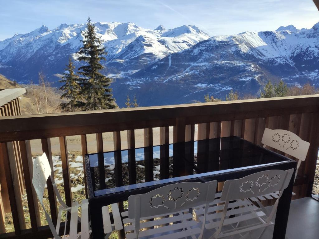
[[[274,223],[272,219],[277,211],[278,200],[289,185],[292,175],[293,169],[267,170],[240,179],[227,180],[221,195],[217,194],[220,198],[210,203],[206,218],[203,208],[197,209],[196,214],[200,221],[206,221],[206,229],[213,231],[212,238],[236,234],[244,237],[252,230],[263,228],[258,237],[261,238],[266,227]],[[279,191],[279,195],[270,213],[249,200],[251,197],[275,194],[276,191]]]

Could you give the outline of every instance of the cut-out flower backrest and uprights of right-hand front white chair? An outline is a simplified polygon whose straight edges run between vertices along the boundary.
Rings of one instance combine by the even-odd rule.
[[[258,197],[268,193],[279,191],[278,199],[276,200],[271,213],[269,214],[266,222],[269,223],[275,212],[277,211],[278,200],[280,199],[282,192],[288,187],[290,179],[293,175],[294,169],[289,170],[267,170],[257,172],[246,177],[239,179],[227,180],[223,187],[221,194],[221,201],[225,201],[222,218],[219,224],[217,232],[214,234],[219,235],[223,226],[229,201],[241,200],[251,197]],[[231,210],[234,210],[232,208]],[[229,212],[228,212],[229,213]]]

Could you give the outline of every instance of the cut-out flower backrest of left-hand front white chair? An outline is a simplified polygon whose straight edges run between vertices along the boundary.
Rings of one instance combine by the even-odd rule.
[[[176,212],[205,204],[205,216],[208,205],[215,199],[217,181],[206,183],[184,182],[166,185],[144,194],[129,197],[129,218],[135,219],[135,231],[138,238],[140,218]],[[204,230],[202,225],[201,238]]]

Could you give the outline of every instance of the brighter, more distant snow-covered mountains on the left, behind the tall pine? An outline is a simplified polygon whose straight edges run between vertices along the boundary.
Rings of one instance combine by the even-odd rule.
[[[108,66],[105,74],[130,74],[168,54],[178,52],[209,38],[195,26],[181,26],[166,30],[144,29],[134,23],[98,22],[97,34],[107,48]],[[33,80],[42,70],[50,81],[63,72],[68,58],[77,58],[85,24],[61,24],[53,30],[42,25],[27,34],[15,34],[0,41],[0,72],[19,82]]]

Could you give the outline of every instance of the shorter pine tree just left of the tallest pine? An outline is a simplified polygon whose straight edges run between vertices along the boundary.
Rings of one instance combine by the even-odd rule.
[[[69,63],[66,65],[65,71],[59,80],[60,83],[64,83],[60,87],[60,90],[65,91],[61,96],[61,99],[69,99],[70,102],[67,104],[61,104],[63,112],[75,111],[77,108],[77,101],[79,100],[79,85],[78,85],[78,75],[74,73],[75,66],[69,58]]]

